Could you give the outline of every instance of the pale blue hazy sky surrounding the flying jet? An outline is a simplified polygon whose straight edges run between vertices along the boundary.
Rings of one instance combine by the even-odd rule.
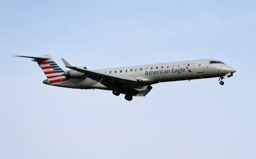
[[[255,159],[256,2],[0,1],[1,159]],[[44,85],[14,55],[88,69],[216,58],[234,77],[160,83],[132,102]]]

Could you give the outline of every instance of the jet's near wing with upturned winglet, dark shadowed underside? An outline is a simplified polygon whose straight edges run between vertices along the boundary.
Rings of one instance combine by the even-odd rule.
[[[101,72],[96,72],[92,70],[86,70],[82,68],[77,68],[71,66],[66,60],[62,58],[63,63],[66,68],[70,68],[77,72],[85,73],[85,76],[100,82],[102,85],[110,89],[123,88],[123,89],[132,89],[137,87],[138,81],[136,78],[124,77],[124,76],[115,76],[110,74],[104,74]]]

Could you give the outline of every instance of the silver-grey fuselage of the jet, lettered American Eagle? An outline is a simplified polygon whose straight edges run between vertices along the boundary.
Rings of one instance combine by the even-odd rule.
[[[202,78],[216,78],[234,73],[235,70],[226,64],[210,64],[214,59],[190,60],[182,62],[169,62],[161,64],[148,64],[140,66],[127,66],[120,68],[105,68],[93,70],[114,76],[131,77],[141,80],[137,85],[131,85],[130,89],[159,82],[181,81]],[[76,89],[106,89],[99,81],[90,78],[72,78],[70,81],[54,83],[59,87],[70,87]]]

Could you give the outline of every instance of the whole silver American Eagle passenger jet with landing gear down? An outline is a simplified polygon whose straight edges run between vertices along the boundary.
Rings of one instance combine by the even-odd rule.
[[[156,83],[218,77],[220,85],[224,85],[223,79],[232,77],[236,72],[234,68],[215,59],[88,70],[85,66],[74,67],[62,58],[65,67],[70,69],[65,71],[50,55],[17,57],[31,58],[37,62],[47,78],[44,84],[109,90],[116,96],[124,94],[127,101],[132,101],[133,96],[145,97],[151,91],[151,85]]]

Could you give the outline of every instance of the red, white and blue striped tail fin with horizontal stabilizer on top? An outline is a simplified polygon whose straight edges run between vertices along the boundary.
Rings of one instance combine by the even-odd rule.
[[[62,74],[64,74],[64,70],[62,70],[62,68],[58,66],[58,64],[54,61],[54,59],[50,55],[44,55],[39,57],[31,57],[31,56],[17,56],[17,57],[32,58],[32,61],[38,63],[39,67],[43,70],[46,78],[48,79],[62,77]]]

